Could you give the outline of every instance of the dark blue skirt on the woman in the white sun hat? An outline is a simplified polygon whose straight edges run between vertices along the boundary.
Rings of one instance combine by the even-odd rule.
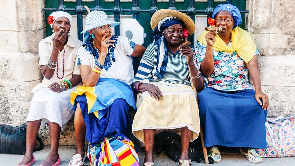
[[[77,96],[82,116],[86,125],[86,140],[95,146],[104,140],[104,137],[132,136],[132,122],[129,116],[129,105],[126,100],[117,98],[106,109],[101,110],[104,115],[98,119],[93,113],[88,114],[88,105],[85,94]]]

